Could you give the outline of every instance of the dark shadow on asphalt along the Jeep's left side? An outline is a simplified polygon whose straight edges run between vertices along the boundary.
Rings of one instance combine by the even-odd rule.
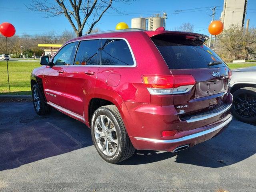
[[[0,103],[0,171],[92,146],[90,129],[57,110],[38,116],[31,102]]]

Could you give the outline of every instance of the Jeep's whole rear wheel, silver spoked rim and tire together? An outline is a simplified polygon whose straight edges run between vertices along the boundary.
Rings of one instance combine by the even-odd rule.
[[[114,105],[102,106],[94,112],[91,134],[98,154],[106,162],[116,164],[130,158],[134,153],[135,149],[124,128],[121,115]]]

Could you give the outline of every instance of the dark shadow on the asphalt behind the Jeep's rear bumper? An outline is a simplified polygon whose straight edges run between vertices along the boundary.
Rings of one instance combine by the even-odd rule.
[[[218,168],[240,162],[256,153],[256,126],[232,120],[220,135],[177,153],[138,151],[122,165],[147,164],[175,158],[175,162]]]

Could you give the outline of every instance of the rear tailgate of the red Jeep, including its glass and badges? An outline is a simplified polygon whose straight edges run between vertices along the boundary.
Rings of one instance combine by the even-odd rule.
[[[182,32],[161,33],[151,37],[172,75],[192,75],[196,80],[189,92],[173,94],[174,106],[181,119],[225,103],[229,68],[214,51],[203,44],[204,38],[199,34]]]

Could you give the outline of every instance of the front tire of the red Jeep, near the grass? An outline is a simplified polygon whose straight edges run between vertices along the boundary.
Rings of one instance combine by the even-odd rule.
[[[39,98],[38,101],[40,103],[39,108],[37,108],[36,104],[35,104],[37,99],[34,98],[34,92],[38,93],[38,98]],[[42,94],[38,84],[35,84],[32,87],[32,99],[33,99],[34,109],[38,115],[45,115],[45,114],[49,114],[51,112],[52,107],[50,105],[48,105],[46,102],[44,102],[44,97],[43,97],[43,94]]]

